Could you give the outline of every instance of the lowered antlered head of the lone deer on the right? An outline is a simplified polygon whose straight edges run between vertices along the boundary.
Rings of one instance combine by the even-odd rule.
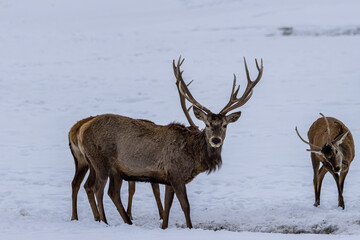
[[[344,142],[346,136],[349,134],[349,131],[337,136],[335,139],[331,139],[330,135],[330,127],[329,122],[327,118],[324,116],[324,114],[320,113],[320,115],[324,118],[326,123],[326,132],[327,132],[327,141],[323,146],[317,146],[310,142],[305,141],[299,134],[297,128],[295,128],[298,136],[300,139],[306,143],[309,144],[311,149],[307,149],[307,151],[315,153],[321,157],[321,162],[324,164],[324,166],[332,170],[335,173],[338,173],[339,171],[342,171],[343,169],[346,169],[347,166],[344,166],[345,162],[343,162],[343,151],[340,145]]]

